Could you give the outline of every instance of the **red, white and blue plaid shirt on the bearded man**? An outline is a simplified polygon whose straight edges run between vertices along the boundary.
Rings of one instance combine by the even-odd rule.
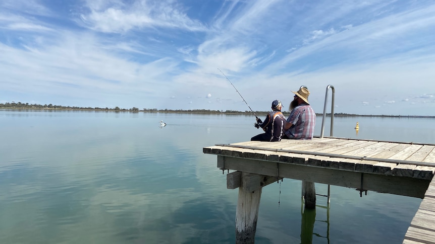
[[[292,110],[287,122],[293,124],[284,133],[290,139],[312,139],[316,114],[309,104],[303,103]]]

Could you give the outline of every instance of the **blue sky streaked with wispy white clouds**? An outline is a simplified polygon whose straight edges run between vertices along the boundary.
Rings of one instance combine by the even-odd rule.
[[[2,0],[0,103],[435,115],[434,1]],[[328,111],[331,109],[331,90]]]

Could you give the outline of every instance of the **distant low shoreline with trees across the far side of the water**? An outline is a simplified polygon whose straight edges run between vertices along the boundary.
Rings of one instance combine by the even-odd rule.
[[[7,104],[8,105],[8,104]],[[17,104],[18,105],[18,104]],[[79,107],[63,107],[63,106],[37,106],[35,105],[25,105],[24,106],[5,106],[5,104],[0,104],[1,110],[46,110],[46,111],[106,111],[106,112],[132,112],[132,113],[179,113],[179,114],[226,114],[226,115],[238,115],[245,114],[251,115],[251,111],[235,111],[235,110],[227,110],[227,111],[219,111],[219,110],[205,110],[205,109],[195,109],[195,110],[170,110],[170,109],[143,109],[139,110],[138,108],[131,109],[120,109],[118,107],[114,109],[109,108],[79,108]],[[254,111],[255,115],[266,115],[268,111]],[[285,114],[289,114],[290,112],[284,112]],[[331,113],[327,113],[327,116],[331,116]],[[316,116],[323,116],[323,113],[316,113]],[[381,117],[381,118],[431,118],[435,119],[435,116],[425,116],[425,115],[365,115],[365,114],[346,114],[346,113],[334,113],[334,117]]]

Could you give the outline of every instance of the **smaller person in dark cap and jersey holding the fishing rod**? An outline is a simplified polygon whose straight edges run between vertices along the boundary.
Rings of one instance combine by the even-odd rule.
[[[257,118],[259,127],[264,133],[258,134],[251,138],[251,141],[280,141],[283,136],[284,124],[286,118],[281,113],[282,104],[279,100],[272,102],[272,112],[269,112],[264,122]],[[258,127],[257,127],[258,128]]]

